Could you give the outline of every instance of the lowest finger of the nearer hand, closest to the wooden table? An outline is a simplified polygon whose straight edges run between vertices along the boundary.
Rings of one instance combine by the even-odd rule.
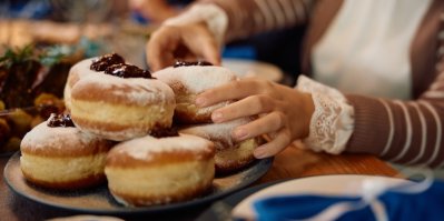
[[[257,159],[268,158],[283,151],[292,142],[288,130],[282,129],[277,132],[275,139],[255,149],[253,154]]]

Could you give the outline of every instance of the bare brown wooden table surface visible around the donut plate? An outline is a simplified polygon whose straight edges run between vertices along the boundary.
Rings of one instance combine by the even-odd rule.
[[[0,158],[3,171],[8,158]],[[265,182],[323,174],[376,174],[395,177],[397,171],[375,157],[367,154],[329,155],[313,153],[295,147],[287,148],[276,155],[270,170],[255,184]],[[71,211],[53,209],[23,199],[7,187],[1,173],[0,182],[0,220],[45,220],[55,217],[75,215]],[[194,220],[209,205],[201,205],[171,214],[148,214],[122,217],[125,220]]]

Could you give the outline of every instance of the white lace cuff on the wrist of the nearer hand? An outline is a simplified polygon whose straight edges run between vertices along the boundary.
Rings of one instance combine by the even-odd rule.
[[[344,151],[354,128],[354,109],[336,89],[300,76],[296,89],[312,93],[315,104],[308,138],[304,144],[315,151]]]

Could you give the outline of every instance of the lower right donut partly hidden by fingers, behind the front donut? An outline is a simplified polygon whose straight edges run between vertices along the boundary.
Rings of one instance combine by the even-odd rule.
[[[180,130],[180,133],[194,134],[213,141],[216,147],[216,172],[234,172],[255,159],[253,151],[264,141],[260,137],[241,142],[233,139],[231,131],[249,121],[250,119],[244,118],[224,123],[191,125]]]

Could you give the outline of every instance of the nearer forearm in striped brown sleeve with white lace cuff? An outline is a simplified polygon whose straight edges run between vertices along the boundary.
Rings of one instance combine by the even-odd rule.
[[[307,91],[300,82],[297,89]],[[341,98],[332,96],[338,91],[332,92],[326,86],[310,88],[309,92],[320,94],[313,97],[318,103],[315,113],[319,114],[312,118],[310,134],[305,139],[310,149],[372,153],[392,162],[444,167],[444,93],[438,87],[431,87],[436,90],[412,101],[355,94]]]

